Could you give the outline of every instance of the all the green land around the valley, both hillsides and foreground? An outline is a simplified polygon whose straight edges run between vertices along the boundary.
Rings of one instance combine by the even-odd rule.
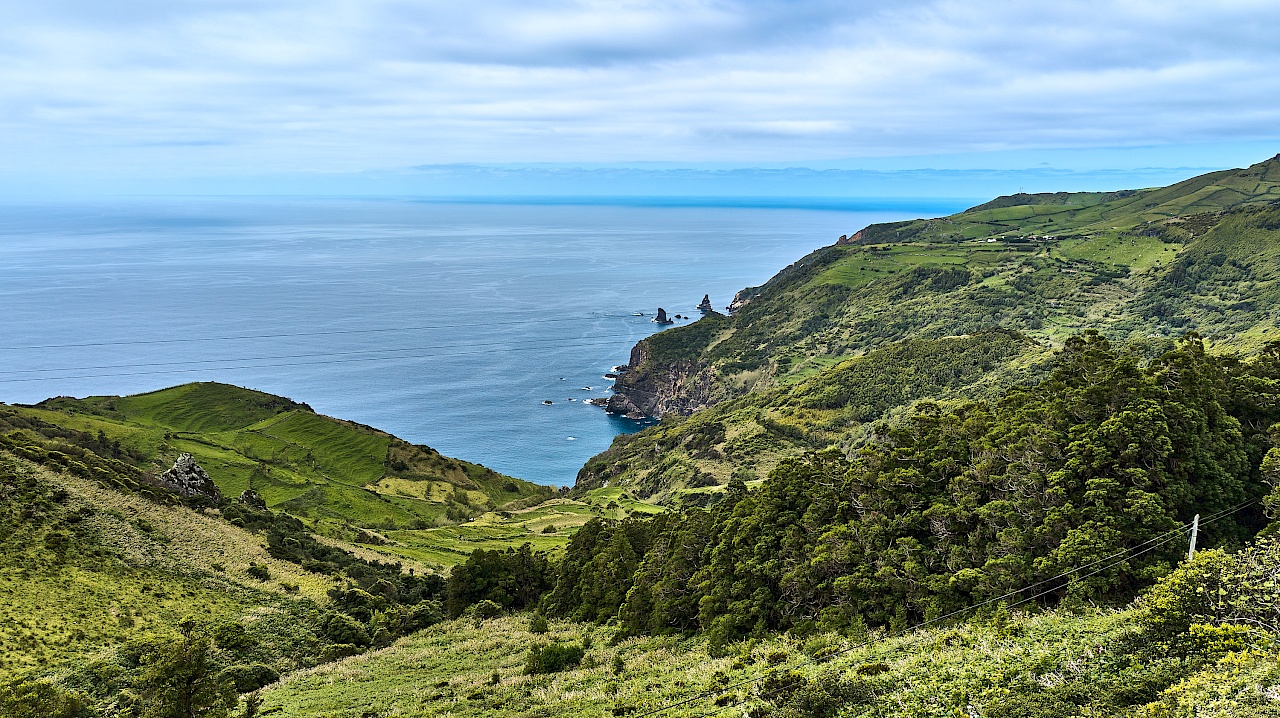
[[[641,340],[572,488],[0,404],[0,715],[1280,715],[1277,306],[1280,157],[841,237]]]

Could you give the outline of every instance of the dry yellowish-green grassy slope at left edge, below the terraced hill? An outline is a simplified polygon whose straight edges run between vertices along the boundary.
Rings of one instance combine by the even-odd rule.
[[[0,678],[173,634],[191,616],[252,625],[273,607],[325,600],[328,580],[269,557],[259,536],[211,516],[0,452],[6,498],[19,479],[35,490],[4,511]],[[251,563],[271,577],[250,577]]]

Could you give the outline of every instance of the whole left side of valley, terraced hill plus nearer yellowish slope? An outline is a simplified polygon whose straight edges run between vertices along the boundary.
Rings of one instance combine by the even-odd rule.
[[[182,452],[218,491],[164,485]],[[0,715],[250,710],[237,694],[440,621],[439,570],[476,548],[544,557],[662,511],[554,495],[221,384],[0,404]]]

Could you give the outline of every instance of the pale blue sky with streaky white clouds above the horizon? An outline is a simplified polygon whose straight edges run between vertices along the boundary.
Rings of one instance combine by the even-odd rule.
[[[1158,184],[1280,152],[1277,29],[1274,0],[0,0],[0,192]]]

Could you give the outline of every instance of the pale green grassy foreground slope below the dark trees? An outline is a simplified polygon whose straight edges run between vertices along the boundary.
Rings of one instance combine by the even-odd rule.
[[[1215,557],[1202,555],[1197,568],[1213,564]],[[1212,585],[1211,576],[1184,570],[1167,585],[1194,590]],[[684,718],[1280,714],[1270,698],[1280,663],[1265,631],[1210,621],[1194,628],[1184,623],[1169,636],[1152,618],[1144,605],[997,609],[896,636],[771,635],[727,653],[710,651],[696,637],[617,641],[608,627],[590,623],[553,621],[539,635],[525,617],[462,619],[376,654],[292,674],[265,691],[264,705],[297,718],[612,718],[666,706],[660,715]],[[530,650],[553,641],[590,648],[571,669],[527,674]]]

